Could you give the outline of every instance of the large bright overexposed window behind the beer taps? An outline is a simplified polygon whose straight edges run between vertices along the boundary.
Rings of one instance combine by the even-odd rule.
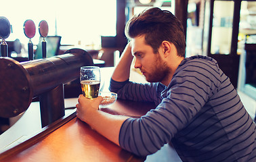
[[[8,0],[1,7],[0,16],[5,16],[12,25],[12,33],[6,41],[20,39],[28,43],[23,24],[30,19],[35,22],[34,45],[39,42],[38,25],[46,20],[49,36],[62,36],[62,45],[100,45],[100,36],[116,35],[116,0]],[[25,45],[26,47],[26,45]]]

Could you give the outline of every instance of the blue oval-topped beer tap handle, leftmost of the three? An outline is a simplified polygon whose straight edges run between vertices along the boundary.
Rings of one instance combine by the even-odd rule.
[[[1,42],[1,57],[7,57],[8,53],[8,45],[5,41],[6,38],[9,37],[11,32],[11,25],[9,24],[9,20],[7,18],[0,16],[0,38],[2,39]]]

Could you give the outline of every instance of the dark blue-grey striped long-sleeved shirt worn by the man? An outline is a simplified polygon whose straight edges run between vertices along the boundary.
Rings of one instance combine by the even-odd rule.
[[[123,123],[119,144],[146,156],[171,142],[182,161],[256,161],[253,120],[229,78],[210,57],[188,57],[169,86],[110,81],[119,98],[157,107]]]

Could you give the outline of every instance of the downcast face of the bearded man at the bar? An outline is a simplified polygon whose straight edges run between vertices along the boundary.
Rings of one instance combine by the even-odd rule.
[[[144,36],[137,36],[131,40],[131,52],[135,56],[134,68],[139,68],[148,82],[161,82],[168,73],[167,63],[161,54],[154,53],[150,45],[146,45]]]

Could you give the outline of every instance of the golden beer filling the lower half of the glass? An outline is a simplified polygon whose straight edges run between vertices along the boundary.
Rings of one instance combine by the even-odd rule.
[[[82,80],[81,87],[83,95],[87,99],[94,99],[98,97],[100,89],[100,81],[98,80]]]

